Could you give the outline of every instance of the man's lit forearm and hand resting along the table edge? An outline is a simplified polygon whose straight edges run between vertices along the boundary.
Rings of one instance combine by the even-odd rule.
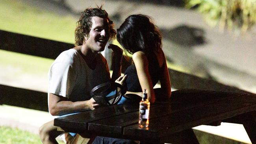
[[[97,106],[98,104],[93,98],[86,101],[71,102],[63,96],[52,93],[49,95],[49,112],[53,116],[94,110]]]

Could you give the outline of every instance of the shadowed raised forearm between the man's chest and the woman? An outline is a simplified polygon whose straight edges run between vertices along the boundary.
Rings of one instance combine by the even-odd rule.
[[[114,44],[109,44],[108,48],[113,50],[113,73],[111,76],[111,81],[115,81],[121,76],[123,50]]]

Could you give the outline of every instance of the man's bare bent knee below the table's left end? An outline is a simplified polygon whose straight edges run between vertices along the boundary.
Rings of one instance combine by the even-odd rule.
[[[39,128],[39,136],[43,144],[58,144],[56,137],[63,134],[61,131],[57,131],[57,127],[54,126],[54,120],[43,124]]]

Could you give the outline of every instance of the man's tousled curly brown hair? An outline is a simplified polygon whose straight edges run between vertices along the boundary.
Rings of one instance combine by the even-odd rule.
[[[117,32],[114,30],[114,23],[109,19],[108,13],[102,9],[102,6],[97,8],[89,7],[82,12],[80,19],[76,22],[75,41],[77,46],[81,46],[83,44],[84,36],[89,36],[92,26],[91,18],[95,16],[107,19],[110,31],[109,40],[115,39]]]

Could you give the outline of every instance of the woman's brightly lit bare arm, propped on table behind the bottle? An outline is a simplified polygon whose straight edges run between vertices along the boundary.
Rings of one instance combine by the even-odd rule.
[[[145,55],[145,53],[139,51],[139,52],[135,52],[132,55],[132,59],[134,61],[134,65],[137,70],[137,75],[139,78],[141,89],[148,90],[148,100],[150,101],[150,103],[154,103],[156,100],[156,96],[155,96],[153,84],[152,84],[151,77],[148,70],[147,56]]]

